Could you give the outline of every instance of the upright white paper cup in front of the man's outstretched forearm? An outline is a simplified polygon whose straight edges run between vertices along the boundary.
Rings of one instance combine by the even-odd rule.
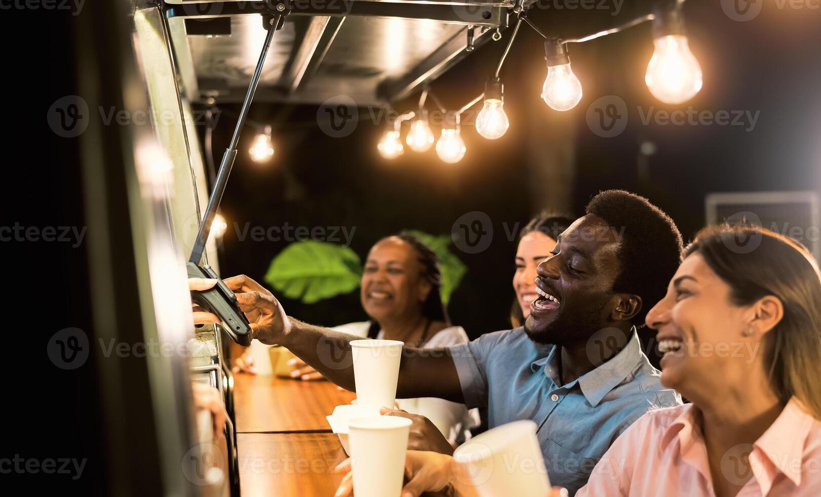
[[[354,340],[356,403],[376,409],[393,407],[397,396],[399,360],[404,343],[398,340]]]

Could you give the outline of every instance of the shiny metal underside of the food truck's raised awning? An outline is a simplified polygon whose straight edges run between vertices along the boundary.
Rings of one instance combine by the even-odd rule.
[[[359,105],[401,99],[507,27],[512,0],[291,0],[255,101]],[[166,0],[181,75],[192,102],[239,102],[265,39],[267,2]],[[470,34],[469,34],[470,31]]]

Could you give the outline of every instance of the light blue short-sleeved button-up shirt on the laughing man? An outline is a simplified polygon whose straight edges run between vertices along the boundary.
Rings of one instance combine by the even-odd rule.
[[[610,444],[657,407],[681,404],[659,382],[635,330],[616,356],[568,384],[559,347],[535,345],[522,328],[450,347],[467,407],[486,407],[488,426],[529,419],[552,485],[576,493]]]

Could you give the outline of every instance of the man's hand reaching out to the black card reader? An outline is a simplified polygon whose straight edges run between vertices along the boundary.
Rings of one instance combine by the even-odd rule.
[[[222,281],[236,293],[240,310],[250,323],[251,338],[268,345],[281,344],[291,331],[291,321],[273,294],[245,274]]]

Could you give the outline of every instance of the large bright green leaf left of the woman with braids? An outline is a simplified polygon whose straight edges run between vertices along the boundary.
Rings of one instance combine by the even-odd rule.
[[[293,242],[268,266],[265,281],[284,297],[315,304],[350,293],[360,285],[359,255],[346,246],[328,242]]]

